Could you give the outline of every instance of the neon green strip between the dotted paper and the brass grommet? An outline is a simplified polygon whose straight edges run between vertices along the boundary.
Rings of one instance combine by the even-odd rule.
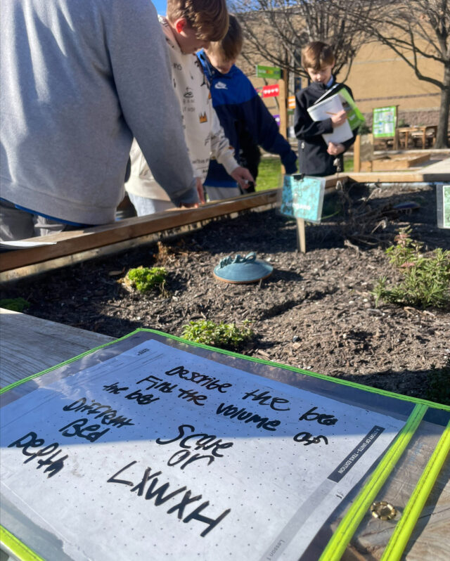
[[[428,407],[423,404],[417,404],[416,407],[414,407],[406,425],[401,432],[399,432],[397,438],[375,468],[370,479],[359,492],[359,495],[347,511],[345,517],[340,521],[333,537],[323,550],[321,557],[319,557],[319,561],[340,560],[340,557],[344,553],[349,541],[352,539],[361,520],[364,515],[366,515],[371,503],[373,503],[376,494],[380,491],[383,484],[385,484],[387,477],[389,477],[401,454],[406,449],[406,446],[408,446],[409,441],[413,437],[414,432],[416,432],[427,410]]]

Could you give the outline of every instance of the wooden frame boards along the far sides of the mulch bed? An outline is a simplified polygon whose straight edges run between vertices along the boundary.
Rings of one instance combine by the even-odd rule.
[[[338,181],[345,183],[348,179],[360,183],[409,183],[441,179],[446,181],[450,179],[450,173],[448,175],[448,177],[437,177],[435,174],[421,171],[339,174],[326,178],[326,193],[332,192]],[[43,236],[39,241],[54,244],[11,250],[1,254],[0,281],[13,280],[98,255],[136,247],[141,243],[158,239],[162,232],[176,235],[180,233],[180,228],[181,231],[199,228],[205,224],[205,221],[217,217],[257,207],[274,206],[277,193],[278,189],[259,191],[238,198],[208,202],[196,209],[174,209],[148,217],[128,218],[104,226]],[[37,238],[30,238],[28,241],[37,241]]]

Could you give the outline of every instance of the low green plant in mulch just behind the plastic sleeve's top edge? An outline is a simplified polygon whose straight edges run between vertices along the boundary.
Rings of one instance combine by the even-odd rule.
[[[245,320],[243,325],[238,327],[234,323],[214,323],[214,321],[200,319],[184,325],[182,336],[188,341],[238,351],[255,335],[249,327],[250,323]]]

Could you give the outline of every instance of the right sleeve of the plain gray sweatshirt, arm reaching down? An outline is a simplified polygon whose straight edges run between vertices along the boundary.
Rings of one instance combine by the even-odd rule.
[[[174,205],[198,202],[165,38],[148,0],[114,4],[106,37],[124,120]]]

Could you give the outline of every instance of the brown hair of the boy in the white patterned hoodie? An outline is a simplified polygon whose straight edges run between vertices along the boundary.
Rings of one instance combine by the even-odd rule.
[[[226,0],[167,0],[167,19],[185,18],[204,41],[219,41],[228,29]]]

